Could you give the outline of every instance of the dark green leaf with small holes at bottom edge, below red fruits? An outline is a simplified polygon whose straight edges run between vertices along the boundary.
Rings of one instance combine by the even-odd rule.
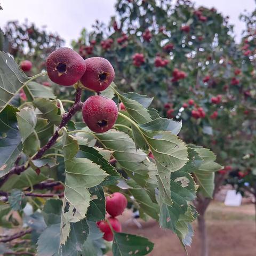
[[[114,256],[143,256],[150,253],[153,247],[154,244],[147,238],[115,232],[112,251]]]

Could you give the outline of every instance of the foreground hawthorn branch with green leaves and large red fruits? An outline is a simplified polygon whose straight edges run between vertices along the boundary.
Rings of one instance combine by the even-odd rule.
[[[47,72],[28,77],[9,54],[0,57],[1,253],[103,255],[105,239],[114,255],[146,255],[153,243],[122,233],[115,218],[127,201],[186,250],[194,177],[213,186],[204,173],[220,169],[214,154],[177,137],[182,123],[160,117],[153,98],[119,93],[106,59],[61,48],[47,57]],[[41,84],[44,76],[69,97]]]

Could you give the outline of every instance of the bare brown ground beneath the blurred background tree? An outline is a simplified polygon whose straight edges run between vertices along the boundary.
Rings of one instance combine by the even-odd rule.
[[[122,218],[125,233],[137,234],[155,243],[150,256],[185,256],[179,239],[169,230],[162,230],[158,223],[150,220],[140,221],[139,229],[129,221],[131,212],[126,211]],[[213,202],[206,213],[206,225],[209,238],[210,256],[255,256],[256,255],[256,225],[254,221],[254,205],[227,207],[223,203]],[[199,238],[197,223],[193,224],[195,236],[189,256],[199,256]],[[111,254],[108,254],[111,255]]]

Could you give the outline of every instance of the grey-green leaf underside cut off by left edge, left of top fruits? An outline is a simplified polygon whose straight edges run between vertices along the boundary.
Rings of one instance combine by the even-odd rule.
[[[0,112],[2,112],[29,77],[20,70],[10,55],[2,51],[0,51],[0,67]]]

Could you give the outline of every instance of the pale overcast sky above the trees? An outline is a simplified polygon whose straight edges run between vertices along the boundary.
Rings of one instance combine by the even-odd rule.
[[[115,14],[116,0],[0,0],[4,10],[0,12],[0,27],[7,21],[19,20],[35,22],[38,27],[47,26],[47,30],[58,32],[69,45],[71,39],[78,38],[82,28],[91,29],[96,19],[108,22]],[[239,38],[244,26],[238,16],[245,9],[255,8],[254,0],[195,0],[197,6],[215,7],[235,25]]]

